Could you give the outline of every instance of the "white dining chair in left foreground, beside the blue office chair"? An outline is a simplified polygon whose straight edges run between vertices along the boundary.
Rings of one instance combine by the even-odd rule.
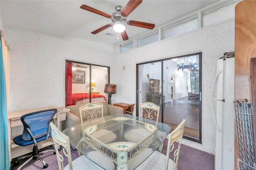
[[[72,161],[71,158],[71,150],[70,150],[70,142],[69,137],[63,134],[52,122],[50,123],[52,128],[52,138],[54,140],[55,148],[62,146],[63,156],[59,153],[58,149],[56,150],[56,156],[58,160],[59,170],[114,170],[115,165],[112,160],[107,158],[106,156],[100,154],[100,152],[92,151],[88,152],[88,156],[92,156],[100,160],[100,166],[96,163],[92,162],[90,159],[85,156],[79,156],[75,160]],[[80,154],[80,152],[78,152]],[[68,157],[68,165],[64,167],[64,157]]]

